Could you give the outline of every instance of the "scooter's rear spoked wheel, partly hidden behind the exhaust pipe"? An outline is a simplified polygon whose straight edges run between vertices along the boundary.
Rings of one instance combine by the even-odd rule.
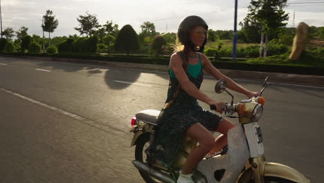
[[[137,140],[136,148],[135,148],[136,161],[146,163],[147,157],[145,154],[145,150],[150,146],[149,141],[150,141],[150,135],[144,135]],[[148,175],[147,173],[145,173],[143,171],[139,171],[139,173],[143,177],[143,180],[145,180],[145,182],[147,182],[147,183],[161,182],[160,180],[157,180],[156,178],[151,177],[150,175]]]

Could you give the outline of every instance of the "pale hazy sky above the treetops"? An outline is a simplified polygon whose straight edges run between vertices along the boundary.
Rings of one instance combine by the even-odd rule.
[[[205,19],[213,30],[233,30],[234,0],[1,0],[2,29],[11,27],[19,30],[28,28],[28,34],[42,35],[42,16],[46,10],[53,10],[59,24],[51,37],[80,35],[77,17],[96,15],[99,24],[112,20],[122,28],[130,24],[136,33],[141,32],[141,24],[151,21],[160,33],[177,32],[181,19],[198,15]],[[324,0],[288,0],[289,13],[287,27],[304,21],[309,26],[324,26]],[[307,2],[307,3],[305,3]],[[250,0],[238,0],[237,22],[244,19]],[[295,12],[295,21],[293,16]],[[238,26],[239,28],[239,26]],[[48,33],[45,33],[48,36]]]

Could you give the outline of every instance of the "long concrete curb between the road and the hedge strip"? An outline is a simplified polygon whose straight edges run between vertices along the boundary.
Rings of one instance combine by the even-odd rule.
[[[137,64],[127,62],[111,62],[111,61],[99,61],[99,60],[78,60],[68,58],[39,58],[29,56],[4,56],[8,58],[26,58],[32,60],[53,61],[53,62],[72,62],[82,64],[93,64],[106,67],[117,67],[121,69],[142,69],[145,71],[161,71],[168,72],[167,65],[156,64]],[[314,87],[324,87],[324,76],[312,76],[312,75],[300,75],[291,73],[270,73],[270,72],[258,72],[258,71],[239,71],[229,69],[219,69],[224,75],[229,78],[242,78],[251,80],[264,80],[269,77],[271,82],[285,82],[287,84],[295,85],[307,85]],[[206,73],[205,73],[206,74]],[[208,76],[208,74],[206,74]]]

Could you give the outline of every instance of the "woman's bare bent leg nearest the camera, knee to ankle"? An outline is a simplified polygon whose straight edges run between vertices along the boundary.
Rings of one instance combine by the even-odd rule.
[[[215,138],[203,125],[195,123],[188,128],[186,134],[195,141],[199,142],[199,146],[190,151],[188,159],[182,168],[183,174],[189,174],[192,169],[210,152],[215,144]]]

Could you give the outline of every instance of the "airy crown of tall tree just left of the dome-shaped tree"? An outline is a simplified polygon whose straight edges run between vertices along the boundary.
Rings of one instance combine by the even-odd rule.
[[[93,35],[93,31],[96,30],[96,28],[99,28],[100,25],[98,24],[98,19],[96,15],[91,15],[89,12],[86,12],[87,15],[79,15],[77,20],[79,21],[80,27],[75,27],[75,30],[78,30],[80,35],[87,35],[87,37]]]

